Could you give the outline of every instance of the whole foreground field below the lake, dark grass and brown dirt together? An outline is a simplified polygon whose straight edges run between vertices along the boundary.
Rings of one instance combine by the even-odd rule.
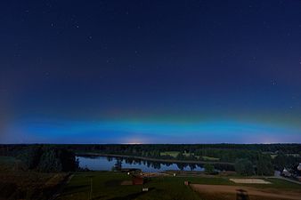
[[[266,179],[272,184],[236,184],[227,177],[159,177],[151,178],[144,187],[148,192],[142,192],[142,186],[122,185],[131,180],[125,173],[119,172],[83,172],[75,174],[74,178],[63,189],[57,200],[104,199],[104,200],[132,200],[132,199],[236,199],[236,189],[249,190],[250,200],[262,199],[299,199],[301,186],[285,180]],[[185,186],[185,180],[191,181],[192,187]],[[206,185],[206,189],[198,189],[197,185]],[[223,190],[224,186],[234,187]],[[208,188],[215,188],[214,192]],[[222,187],[222,188],[221,188]],[[221,188],[222,192],[218,192]],[[229,192],[231,191],[231,192]],[[234,192],[233,192],[234,191]],[[92,196],[90,196],[92,192]],[[283,196],[275,196],[274,193]],[[264,195],[263,195],[264,194]],[[271,194],[271,196],[269,196]],[[263,195],[263,196],[261,196]],[[293,196],[292,198],[289,198]]]

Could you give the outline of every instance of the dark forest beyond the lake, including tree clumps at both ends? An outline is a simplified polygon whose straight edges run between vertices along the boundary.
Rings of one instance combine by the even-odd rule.
[[[37,169],[42,169],[42,171],[46,172],[53,171],[54,168],[65,170],[63,159],[60,158],[60,155],[66,154],[61,153],[63,151],[73,151],[77,154],[97,153],[103,155],[142,156],[181,161],[207,161],[207,157],[213,157],[217,159],[211,160],[211,162],[233,163],[237,172],[246,175],[272,175],[274,169],[292,168],[297,163],[301,163],[300,144],[1,145],[0,154],[4,156],[20,156],[24,155],[24,152],[27,152],[28,149],[48,149],[44,153],[36,152],[40,159],[38,162],[36,162],[35,154],[28,156],[32,157],[30,159],[34,160],[33,164]],[[177,156],[164,154],[164,152],[170,151],[178,152]],[[55,160],[56,157],[59,157],[59,161],[61,159],[61,163]],[[74,156],[70,157],[73,157],[73,162]],[[49,167],[49,164],[57,164],[57,166],[53,166],[52,169]],[[31,167],[30,164],[28,166],[29,168]],[[47,169],[47,167],[50,169]]]

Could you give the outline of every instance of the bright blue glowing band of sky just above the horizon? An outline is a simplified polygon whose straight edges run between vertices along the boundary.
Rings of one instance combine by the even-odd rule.
[[[20,143],[273,143],[301,139],[299,127],[224,120],[19,122],[11,132],[20,132]],[[6,141],[10,140],[8,135]]]

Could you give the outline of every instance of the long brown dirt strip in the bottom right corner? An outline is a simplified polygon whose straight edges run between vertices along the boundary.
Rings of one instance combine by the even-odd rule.
[[[268,189],[257,189],[251,187],[240,187],[240,186],[223,186],[223,185],[200,185],[191,184],[191,188],[199,193],[227,193],[227,194],[238,194],[240,191],[247,192],[248,196],[263,196],[277,199],[292,199],[301,200],[301,191],[297,192],[284,192],[284,191],[271,191]]]

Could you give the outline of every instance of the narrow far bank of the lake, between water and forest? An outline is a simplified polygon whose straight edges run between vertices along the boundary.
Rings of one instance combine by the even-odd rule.
[[[77,156],[108,156],[108,157],[126,157],[126,158],[134,158],[152,162],[161,162],[161,163],[173,163],[173,164],[229,164],[234,165],[234,163],[227,162],[213,162],[213,161],[196,161],[196,160],[176,160],[176,159],[160,159],[160,158],[152,158],[152,157],[143,157],[143,156],[126,156],[126,155],[118,155],[118,154],[101,154],[101,153],[77,153]]]

